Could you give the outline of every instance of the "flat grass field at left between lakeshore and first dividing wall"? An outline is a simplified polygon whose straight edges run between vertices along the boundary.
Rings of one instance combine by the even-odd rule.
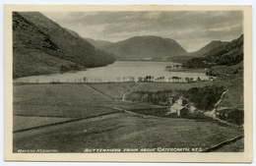
[[[82,118],[113,112],[113,102],[86,84],[14,86],[14,115]]]

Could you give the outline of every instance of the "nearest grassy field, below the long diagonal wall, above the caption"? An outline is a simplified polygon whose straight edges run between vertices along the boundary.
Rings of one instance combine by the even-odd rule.
[[[18,149],[84,152],[86,148],[208,148],[241,131],[217,122],[140,118],[118,113],[14,134]]]

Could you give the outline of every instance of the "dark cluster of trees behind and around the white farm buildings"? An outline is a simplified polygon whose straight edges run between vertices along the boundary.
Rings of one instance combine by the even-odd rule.
[[[214,104],[220,99],[224,86],[208,85],[205,87],[192,87],[188,90],[162,90],[162,91],[131,91],[126,95],[127,100],[159,105],[168,105],[169,97],[178,99],[184,96],[193,102],[195,107],[202,110],[214,108]]]

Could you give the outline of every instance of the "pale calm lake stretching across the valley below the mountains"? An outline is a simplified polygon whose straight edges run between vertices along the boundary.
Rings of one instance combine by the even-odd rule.
[[[173,62],[153,61],[116,61],[115,63],[99,68],[90,68],[86,71],[64,74],[50,74],[41,76],[24,77],[14,80],[14,83],[107,83],[107,82],[138,82],[139,78],[147,76],[154,77],[154,80],[164,77],[161,82],[174,82],[169,78],[179,77],[184,82],[185,78],[199,77],[201,80],[208,80],[203,73],[168,72],[165,67],[175,65]]]

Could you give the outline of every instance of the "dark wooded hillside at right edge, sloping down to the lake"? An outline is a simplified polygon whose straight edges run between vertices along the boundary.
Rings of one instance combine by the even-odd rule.
[[[192,58],[183,63],[186,68],[209,68],[216,65],[232,66],[243,61],[243,34],[226,44],[205,53],[202,57]]]

